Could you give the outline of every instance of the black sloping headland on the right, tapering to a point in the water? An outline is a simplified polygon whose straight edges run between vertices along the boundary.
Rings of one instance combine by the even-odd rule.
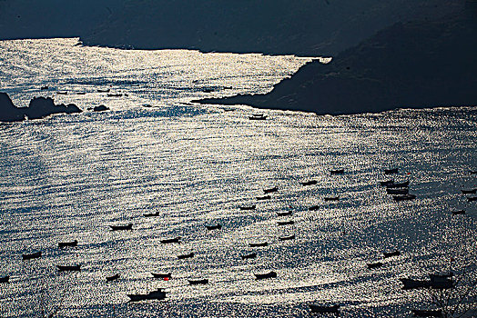
[[[444,18],[398,23],[343,51],[329,65],[299,69],[269,94],[203,99],[317,114],[477,104],[475,6]]]

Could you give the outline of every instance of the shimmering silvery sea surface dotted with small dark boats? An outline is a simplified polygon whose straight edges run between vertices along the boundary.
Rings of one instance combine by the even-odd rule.
[[[59,317],[302,317],[307,303],[338,303],[345,317],[411,316],[431,308],[427,293],[402,291],[399,278],[451,267],[475,279],[476,203],[461,190],[477,187],[476,108],[317,116],[191,104],[267,92],[307,59],[75,44],[0,42],[1,91],[15,104],[45,95],[84,110],[0,124],[0,277],[11,276],[0,284],[1,316],[59,306]],[[96,92],[105,88],[127,96]],[[98,104],[111,110],[88,110]],[[268,118],[251,121],[253,113]],[[416,200],[385,194],[378,182],[390,167]],[[336,168],[345,173],[330,175]],[[274,186],[270,200],[257,200]],[[250,204],[257,209],[239,210]],[[452,216],[460,209],[467,214]],[[279,240],[289,234],[295,240]],[[175,236],[183,243],[159,242]],[[57,248],[71,240],[78,246]],[[38,250],[41,259],[22,261]],[[393,250],[401,255],[382,259]],[[80,273],[57,273],[73,263]],[[254,279],[268,271],[278,277]],[[188,285],[199,278],[209,283]],[[167,300],[127,302],[157,287]]]

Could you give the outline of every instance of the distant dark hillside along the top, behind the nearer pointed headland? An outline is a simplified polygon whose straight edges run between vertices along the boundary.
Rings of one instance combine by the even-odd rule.
[[[335,55],[399,21],[459,10],[462,0],[125,0],[85,45],[202,52]]]

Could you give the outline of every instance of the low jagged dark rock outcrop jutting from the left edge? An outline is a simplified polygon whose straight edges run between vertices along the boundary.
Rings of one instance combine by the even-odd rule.
[[[21,122],[27,119],[41,119],[50,114],[81,113],[76,104],[55,104],[52,98],[35,97],[28,107],[18,108],[8,94],[0,93],[0,122]]]

